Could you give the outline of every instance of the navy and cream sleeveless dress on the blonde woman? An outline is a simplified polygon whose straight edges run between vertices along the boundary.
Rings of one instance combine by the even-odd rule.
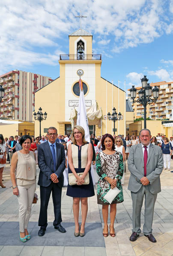
[[[78,145],[72,144],[72,160],[75,167],[76,173],[83,173],[87,165],[88,158],[88,145]],[[70,167],[68,166],[68,172],[72,173]],[[69,197],[92,197],[94,196],[94,186],[91,176],[91,168],[89,169],[89,184],[88,185],[69,185],[67,187],[67,195]]]

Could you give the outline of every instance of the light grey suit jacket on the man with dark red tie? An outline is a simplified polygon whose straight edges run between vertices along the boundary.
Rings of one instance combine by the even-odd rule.
[[[143,150],[141,143],[133,145],[130,148],[128,170],[131,173],[128,189],[132,192],[137,192],[142,186],[140,179],[144,176]],[[162,170],[163,154],[161,148],[150,144],[146,163],[146,177],[149,179],[150,184],[147,186],[152,194],[157,194],[161,191],[160,175]]]

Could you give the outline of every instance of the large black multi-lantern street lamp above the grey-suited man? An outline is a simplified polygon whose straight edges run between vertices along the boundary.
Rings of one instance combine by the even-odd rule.
[[[154,86],[154,88],[152,88],[152,86],[150,86],[149,83],[147,83],[149,79],[147,79],[146,76],[144,76],[140,80],[142,83],[142,88],[138,92],[139,98],[137,100],[134,100],[136,98],[137,91],[137,89],[134,88],[134,85],[132,85],[130,89],[130,96],[131,99],[133,100],[133,103],[139,102],[144,107],[144,129],[146,129],[146,105],[150,104],[151,102],[155,103],[157,101],[159,89],[157,86]],[[154,99],[150,98],[152,94]]]

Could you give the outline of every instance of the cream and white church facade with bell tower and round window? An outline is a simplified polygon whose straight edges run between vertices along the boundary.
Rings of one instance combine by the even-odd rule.
[[[113,122],[106,120],[113,107],[122,114],[116,122],[116,134],[125,133],[125,92],[101,77],[101,54],[92,53],[92,34],[79,29],[69,35],[69,54],[60,55],[60,77],[35,93],[35,111],[42,107],[47,119],[42,122],[41,133],[49,126],[55,126],[59,134],[71,132],[70,114],[72,108],[78,111],[79,79],[83,81],[86,107],[98,103],[102,109],[102,127],[95,127],[95,134],[113,134]],[[131,115],[131,116],[130,116]],[[133,120],[133,113],[128,113]],[[35,122],[35,136],[39,135],[39,122]]]

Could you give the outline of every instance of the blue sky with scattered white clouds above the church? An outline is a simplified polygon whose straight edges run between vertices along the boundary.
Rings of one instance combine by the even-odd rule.
[[[120,88],[173,81],[173,0],[0,0],[0,74],[18,69],[56,79],[69,34],[93,35],[101,77]]]

